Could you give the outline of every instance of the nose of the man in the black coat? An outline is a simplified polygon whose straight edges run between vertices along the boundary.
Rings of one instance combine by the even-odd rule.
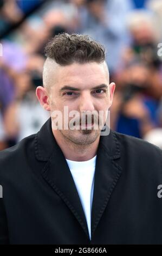
[[[80,97],[80,111],[93,111],[94,108],[94,102],[92,99],[92,96],[89,93],[84,93]]]

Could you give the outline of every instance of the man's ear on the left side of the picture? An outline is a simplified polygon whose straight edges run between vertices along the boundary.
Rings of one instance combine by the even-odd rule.
[[[42,107],[47,111],[50,111],[49,96],[48,96],[47,89],[42,86],[38,86],[36,88],[36,96],[38,101],[40,101],[40,104],[42,105]]]

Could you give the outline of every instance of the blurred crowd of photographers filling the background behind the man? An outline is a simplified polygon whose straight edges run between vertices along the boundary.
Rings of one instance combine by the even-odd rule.
[[[35,89],[44,46],[62,32],[105,46],[116,83],[111,129],[162,148],[161,0],[0,0],[0,150],[49,118]]]

